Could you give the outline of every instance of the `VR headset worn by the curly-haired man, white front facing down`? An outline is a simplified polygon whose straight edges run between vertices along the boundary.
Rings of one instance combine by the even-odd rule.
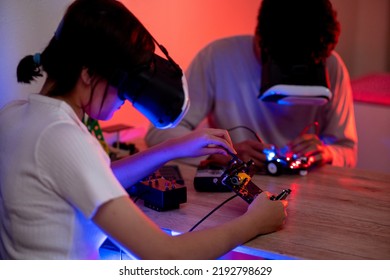
[[[331,98],[325,63],[277,64],[267,59],[262,64],[262,101],[283,105],[323,105]]]

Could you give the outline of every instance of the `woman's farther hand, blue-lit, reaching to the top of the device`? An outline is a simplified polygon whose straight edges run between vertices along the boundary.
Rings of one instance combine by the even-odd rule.
[[[175,157],[236,154],[229,133],[223,129],[201,129],[168,141],[167,152]]]

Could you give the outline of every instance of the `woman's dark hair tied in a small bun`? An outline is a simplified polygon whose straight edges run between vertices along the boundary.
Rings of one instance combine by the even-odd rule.
[[[83,67],[110,80],[116,71],[147,63],[154,42],[138,19],[116,0],[76,0],[41,54],[41,65],[26,56],[18,65],[19,82],[42,76],[54,81],[50,96],[64,95],[76,84]]]

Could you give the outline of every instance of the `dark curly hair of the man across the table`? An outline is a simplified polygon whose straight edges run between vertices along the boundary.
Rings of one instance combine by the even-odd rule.
[[[263,0],[257,23],[262,55],[279,63],[324,60],[340,34],[329,0]]]

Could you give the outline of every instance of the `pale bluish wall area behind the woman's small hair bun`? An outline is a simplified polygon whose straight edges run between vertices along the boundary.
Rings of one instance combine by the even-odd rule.
[[[0,107],[9,100],[40,89],[43,79],[33,86],[17,84],[16,67],[23,56],[43,50],[70,2],[0,1]]]

